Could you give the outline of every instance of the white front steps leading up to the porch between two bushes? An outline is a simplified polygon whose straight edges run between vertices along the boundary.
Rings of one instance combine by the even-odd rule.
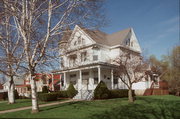
[[[94,96],[93,90],[80,90],[78,94],[74,96],[73,99],[80,99],[80,100],[92,100]]]

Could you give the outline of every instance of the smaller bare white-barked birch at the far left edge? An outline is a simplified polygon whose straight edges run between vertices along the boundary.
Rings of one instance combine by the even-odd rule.
[[[9,79],[9,104],[15,103],[14,77],[19,73],[23,58],[22,39],[11,21],[11,16],[4,16],[1,17],[0,24],[0,72]]]

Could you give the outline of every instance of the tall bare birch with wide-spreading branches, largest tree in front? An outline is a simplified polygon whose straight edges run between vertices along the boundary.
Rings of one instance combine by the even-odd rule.
[[[31,76],[32,112],[39,111],[35,73],[58,58],[58,42],[67,27],[104,24],[102,3],[103,0],[2,0],[7,11],[4,14],[13,16],[15,29],[23,39],[24,66]]]

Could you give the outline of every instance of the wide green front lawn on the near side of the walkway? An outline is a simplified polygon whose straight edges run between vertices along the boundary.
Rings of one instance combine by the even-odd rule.
[[[60,118],[60,119],[180,119],[180,97],[137,97],[130,104],[127,98],[81,101],[31,110],[1,114],[0,118]]]

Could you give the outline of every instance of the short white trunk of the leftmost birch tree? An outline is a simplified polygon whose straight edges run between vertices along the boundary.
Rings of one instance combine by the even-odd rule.
[[[8,102],[9,104],[15,103],[15,96],[14,96],[14,81],[11,79],[9,81],[9,87],[8,87]]]

